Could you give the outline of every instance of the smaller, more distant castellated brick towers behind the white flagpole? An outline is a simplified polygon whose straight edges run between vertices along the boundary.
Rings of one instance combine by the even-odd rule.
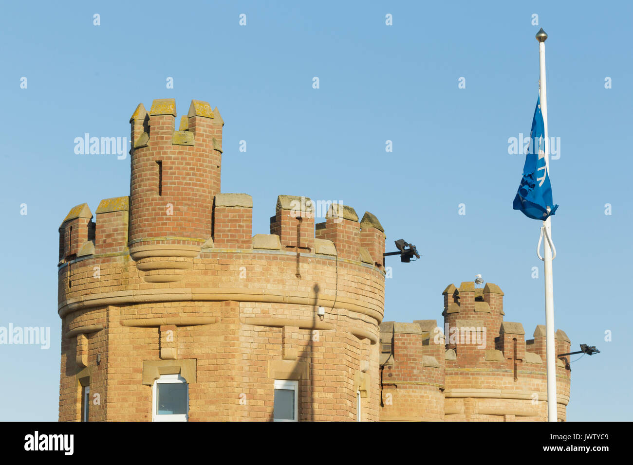
[[[436,320],[380,324],[380,420],[547,421],[545,327],[525,340],[521,323],[503,321],[503,292],[492,283],[453,284]],[[556,332],[556,353],[570,340]],[[570,370],[556,364],[558,418],[565,421]]]

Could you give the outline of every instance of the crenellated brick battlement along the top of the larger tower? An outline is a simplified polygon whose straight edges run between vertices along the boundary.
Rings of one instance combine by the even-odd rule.
[[[353,208],[330,206],[325,222],[315,227],[314,208],[308,197],[279,195],[275,216],[270,219],[270,234],[253,235],[251,195],[216,194],[211,211],[210,235],[201,241],[197,252],[209,249],[299,252],[337,257],[382,270],[385,234],[372,213],[365,212],[359,223]],[[60,265],[79,257],[129,254],[129,220],[127,196],[99,202],[96,222],[92,222],[87,204],[73,207],[60,226]],[[162,250],[166,251],[163,257],[173,253],[171,247]],[[137,258],[142,261],[146,256],[137,254]]]

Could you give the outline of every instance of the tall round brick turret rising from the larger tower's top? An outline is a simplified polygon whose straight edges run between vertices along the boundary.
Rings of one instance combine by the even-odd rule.
[[[130,256],[146,281],[169,282],[211,237],[213,198],[220,192],[223,121],[208,102],[191,101],[175,130],[174,99],[139,104],[130,118]],[[160,275],[160,276],[158,276]]]

